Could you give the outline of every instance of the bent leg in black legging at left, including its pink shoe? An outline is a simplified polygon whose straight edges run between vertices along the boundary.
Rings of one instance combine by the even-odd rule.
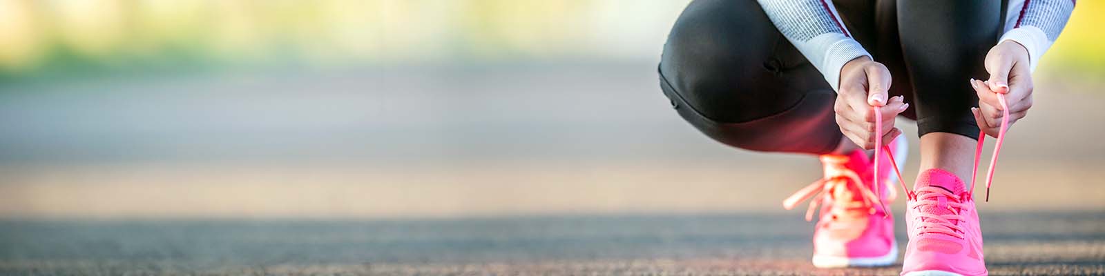
[[[814,266],[880,266],[896,259],[893,217],[873,203],[887,200],[887,194],[876,195],[887,190],[875,189],[887,174],[859,177],[873,176],[874,169],[843,139],[833,112],[835,93],[758,3],[692,2],[664,45],[660,77],[676,112],[718,141],[759,151],[834,153],[821,157],[821,180],[783,200],[792,209],[809,199],[807,220],[821,206]]]

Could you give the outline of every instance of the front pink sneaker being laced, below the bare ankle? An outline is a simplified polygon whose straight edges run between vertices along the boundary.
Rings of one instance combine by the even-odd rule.
[[[903,276],[987,275],[982,233],[970,192],[955,174],[929,169],[907,192]]]

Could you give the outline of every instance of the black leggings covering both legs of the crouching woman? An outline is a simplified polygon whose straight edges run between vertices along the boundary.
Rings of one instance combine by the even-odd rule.
[[[891,71],[918,136],[978,139],[969,77],[1002,28],[999,1],[838,0],[852,36]],[[1003,1],[1002,1],[1003,2]],[[842,138],[836,94],[751,0],[696,0],[664,45],[660,85],[678,114],[737,148],[828,153]]]

